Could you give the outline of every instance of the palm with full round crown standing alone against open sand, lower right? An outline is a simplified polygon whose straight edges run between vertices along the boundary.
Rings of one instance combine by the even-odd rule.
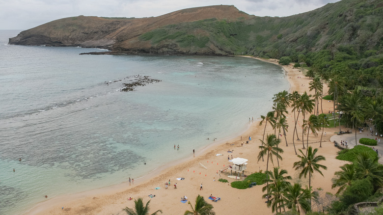
[[[306,178],[308,173],[308,187],[310,188],[311,175],[314,173],[314,171],[319,172],[323,176],[323,173],[320,170],[320,168],[325,170],[327,169],[327,166],[318,163],[319,161],[325,161],[326,158],[322,155],[316,156],[318,149],[314,149],[313,151],[311,146],[307,147],[307,155],[304,155],[301,149],[299,149],[299,151],[302,154],[298,155],[298,158],[300,158],[301,161],[294,162],[293,167],[295,168],[295,170],[301,169],[299,178],[301,178],[302,176]]]

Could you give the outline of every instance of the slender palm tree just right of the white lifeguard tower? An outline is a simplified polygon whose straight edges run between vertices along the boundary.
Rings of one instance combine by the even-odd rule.
[[[267,155],[267,162],[266,162],[266,171],[269,170],[269,160],[273,162],[273,157],[282,160],[282,157],[279,155],[280,153],[283,153],[283,149],[278,147],[278,144],[280,142],[280,139],[277,139],[275,137],[275,134],[267,134],[266,137],[266,143],[262,141],[262,145],[259,146],[261,151],[258,154],[258,161],[263,158],[264,155]],[[269,186],[269,182],[267,181],[267,186]],[[269,195],[267,200],[269,201]]]

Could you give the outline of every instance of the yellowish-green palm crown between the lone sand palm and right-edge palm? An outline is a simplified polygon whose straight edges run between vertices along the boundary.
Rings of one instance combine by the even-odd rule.
[[[334,183],[331,188],[339,187],[336,194],[339,194],[342,190],[351,186],[351,182],[356,180],[356,168],[355,164],[345,164],[340,167],[342,170],[334,173],[336,178],[334,179]]]

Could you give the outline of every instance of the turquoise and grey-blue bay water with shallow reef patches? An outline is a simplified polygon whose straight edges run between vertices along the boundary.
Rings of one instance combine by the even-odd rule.
[[[272,109],[275,93],[289,89],[281,67],[251,58],[7,45],[20,31],[0,30],[4,215],[45,195],[138,181],[215,138],[241,135]],[[160,81],[120,91],[137,76]]]

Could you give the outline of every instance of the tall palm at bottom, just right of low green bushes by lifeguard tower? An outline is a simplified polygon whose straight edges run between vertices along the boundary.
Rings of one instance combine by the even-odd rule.
[[[279,167],[274,167],[273,172],[266,171],[265,173],[268,175],[268,182],[270,184],[269,187],[265,186],[262,188],[262,191],[265,191],[266,189],[268,190],[268,192],[264,194],[263,197],[266,197],[266,195],[270,194],[273,198],[269,199],[267,206],[272,207],[272,213],[274,213],[275,210],[277,211],[278,208],[279,212],[281,212],[281,207],[283,206],[283,191],[285,188],[287,188],[287,186],[291,185],[290,182],[286,180],[291,180],[291,176],[284,176],[287,174],[287,170],[280,169],[279,171]]]

